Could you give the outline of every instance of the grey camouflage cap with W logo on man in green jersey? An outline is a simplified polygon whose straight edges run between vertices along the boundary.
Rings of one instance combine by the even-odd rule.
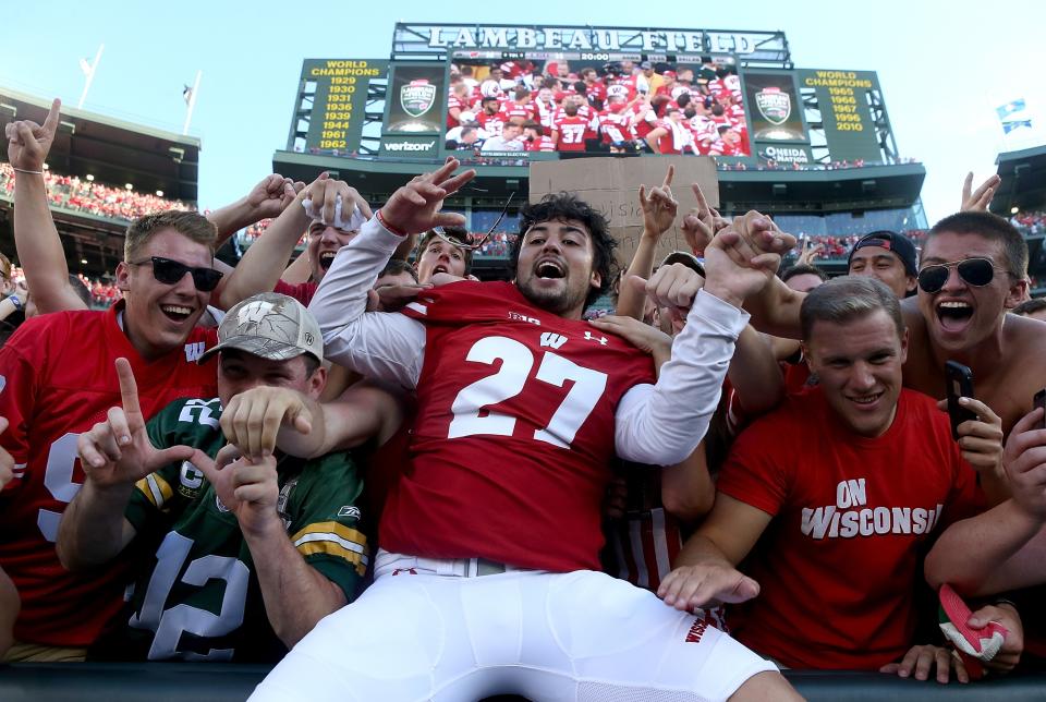
[[[297,300],[278,292],[263,292],[234,305],[218,326],[218,346],[208,349],[198,363],[222,349],[270,361],[309,353],[324,362],[324,337],[316,319]]]

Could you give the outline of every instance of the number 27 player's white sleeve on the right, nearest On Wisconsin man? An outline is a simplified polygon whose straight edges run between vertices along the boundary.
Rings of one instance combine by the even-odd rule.
[[[618,456],[674,465],[693,453],[719,404],[734,343],[747,322],[747,313],[704,290],[697,293],[657,385],[637,385],[618,403]]]

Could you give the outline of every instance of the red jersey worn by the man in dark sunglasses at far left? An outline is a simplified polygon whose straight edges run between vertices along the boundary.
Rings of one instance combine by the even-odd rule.
[[[113,361],[131,362],[146,417],[179,398],[218,394],[216,361],[196,359],[217,342],[194,329],[184,347],[146,362],[106,312],[58,312],[27,320],[0,349],[0,444],[19,464],[0,493],[0,566],[22,597],[14,638],[25,643],[86,646],[122,604],[129,562],[71,573],[54,553],[58,523],[84,481],[76,437],[120,404]],[[198,421],[205,421],[200,408]]]

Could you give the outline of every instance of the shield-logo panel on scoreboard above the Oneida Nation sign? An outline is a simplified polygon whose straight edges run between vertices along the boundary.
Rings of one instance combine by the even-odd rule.
[[[803,104],[791,71],[744,71],[745,105],[756,142],[808,143]]]

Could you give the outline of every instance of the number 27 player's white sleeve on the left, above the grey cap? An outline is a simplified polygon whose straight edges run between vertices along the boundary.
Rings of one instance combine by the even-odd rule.
[[[342,246],[308,305],[324,355],[365,377],[414,389],[425,358],[425,326],[399,313],[365,312],[367,291],[403,241],[377,217]]]

